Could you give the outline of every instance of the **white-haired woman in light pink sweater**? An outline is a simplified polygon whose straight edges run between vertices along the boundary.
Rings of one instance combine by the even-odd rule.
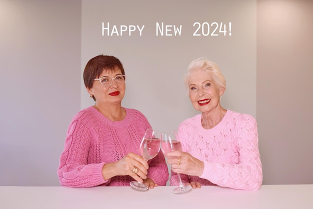
[[[182,151],[168,154],[170,185],[178,185],[177,173],[181,173],[183,183],[192,188],[219,185],[259,189],[262,164],[256,120],[220,105],[226,84],[218,65],[204,57],[193,60],[185,84],[193,107],[201,113],[178,127]]]

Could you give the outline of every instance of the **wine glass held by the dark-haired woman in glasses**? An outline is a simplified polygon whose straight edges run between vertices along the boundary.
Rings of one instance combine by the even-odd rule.
[[[139,146],[140,154],[146,161],[155,157],[159,152],[161,138],[162,133],[160,131],[153,128],[146,129]],[[149,188],[144,183],[138,181],[130,181],[130,185],[139,190],[147,190]]]

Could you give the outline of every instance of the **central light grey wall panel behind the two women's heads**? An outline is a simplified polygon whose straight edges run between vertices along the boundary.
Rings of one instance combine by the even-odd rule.
[[[120,58],[127,76],[122,105],[142,111],[152,127],[167,131],[198,113],[186,96],[183,73],[191,60],[205,56],[219,64],[226,78],[223,107],[255,116],[256,0],[227,4],[215,0],[178,2],[181,1],[158,0],[147,5],[144,0],[123,1],[120,7],[120,0],[109,4],[103,0],[82,0],[81,70],[92,56],[100,53]],[[195,5],[197,9],[189,9]],[[117,7],[119,12],[114,9]],[[109,35],[107,30],[102,35],[102,22],[105,27],[109,25]],[[156,34],[156,24],[162,22],[170,29],[181,25],[180,35],[174,35],[172,30],[168,32],[172,35]],[[204,23],[197,32],[195,22]],[[202,29],[204,34],[207,32],[205,22],[223,22],[226,35],[218,32],[219,26],[216,35],[210,35],[214,24],[209,27],[209,35],[202,35]],[[231,35],[228,22],[232,24]],[[141,35],[137,31],[120,34],[120,25],[129,24],[144,25]],[[118,35],[112,34],[113,25]],[[82,84],[81,108],[92,104],[94,101]]]

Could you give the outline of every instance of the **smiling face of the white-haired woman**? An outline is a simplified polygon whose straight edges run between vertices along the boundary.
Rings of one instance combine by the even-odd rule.
[[[219,97],[224,93],[224,88],[216,84],[210,72],[198,69],[189,75],[188,92],[196,110],[210,112],[220,107]]]

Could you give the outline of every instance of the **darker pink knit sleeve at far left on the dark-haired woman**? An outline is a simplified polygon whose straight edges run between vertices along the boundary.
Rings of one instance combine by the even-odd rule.
[[[92,138],[87,126],[77,118],[69,124],[57,169],[62,186],[92,187],[108,182],[102,176],[104,162],[87,164]]]

